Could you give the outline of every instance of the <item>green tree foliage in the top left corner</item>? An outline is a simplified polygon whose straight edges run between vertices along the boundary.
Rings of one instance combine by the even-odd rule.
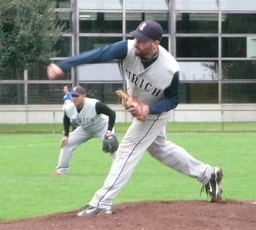
[[[53,8],[53,0],[0,1],[0,69],[25,69],[55,55],[63,25]]]

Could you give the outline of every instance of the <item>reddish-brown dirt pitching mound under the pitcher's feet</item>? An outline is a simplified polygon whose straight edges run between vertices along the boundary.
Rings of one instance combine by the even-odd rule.
[[[77,213],[78,210],[0,222],[0,229],[256,229],[256,202],[132,202],[113,205],[113,215],[81,218]]]

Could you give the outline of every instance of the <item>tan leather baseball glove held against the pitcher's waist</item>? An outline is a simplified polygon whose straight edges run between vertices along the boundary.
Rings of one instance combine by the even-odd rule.
[[[143,117],[142,112],[143,112],[143,107],[142,103],[140,103],[137,99],[129,96],[127,92],[118,90],[116,91],[116,94],[118,95],[118,104],[122,104],[125,108],[125,110],[128,110],[130,107],[135,107],[135,118],[138,120],[144,121],[146,117]]]

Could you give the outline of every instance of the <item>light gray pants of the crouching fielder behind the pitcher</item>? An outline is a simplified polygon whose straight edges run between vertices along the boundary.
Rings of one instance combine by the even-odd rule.
[[[106,131],[108,130],[108,123],[103,126],[102,129],[97,131],[95,134],[90,134],[88,131],[79,126],[75,131],[69,134],[69,139],[64,147],[61,148],[61,153],[59,155],[59,165],[56,167],[56,172],[61,175],[67,174],[67,169],[69,168],[69,161],[72,157],[72,152],[84,142],[87,142],[91,138],[104,139]],[[112,160],[114,160],[116,154],[110,154]]]

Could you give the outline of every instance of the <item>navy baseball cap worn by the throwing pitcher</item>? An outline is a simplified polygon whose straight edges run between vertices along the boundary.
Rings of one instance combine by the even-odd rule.
[[[150,39],[161,41],[162,26],[154,20],[146,20],[140,23],[135,31],[129,33],[140,42],[148,42]]]

